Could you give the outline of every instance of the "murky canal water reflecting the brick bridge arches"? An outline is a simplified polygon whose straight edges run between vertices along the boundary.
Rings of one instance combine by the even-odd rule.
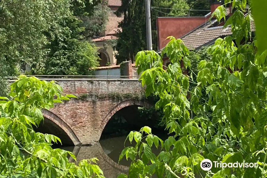
[[[159,136],[159,135],[158,135]],[[165,140],[168,135],[159,136]],[[134,146],[135,141],[130,144],[126,141],[126,136],[120,136],[109,139],[101,139],[98,144],[93,146],[82,146],[82,147],[63,147],[61,149],[68,150],[74,153],[77,158],[77,162],[83,159],[98,158],[98,166],[102,169],[106,178],[117,178],[121,173],[128,173],[128,166],[131,164],[131,160],[126,160],[125,157],[119,162],[119,156],[121,151],[128,146]],[[125,147],[124,147],[125,142]],[[156,155],[160,153],[160,148],[152,147],[152,152]],[[74,162],[70,158],[70,161]]]

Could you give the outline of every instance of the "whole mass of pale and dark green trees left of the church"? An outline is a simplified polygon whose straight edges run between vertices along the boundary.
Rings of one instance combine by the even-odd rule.
[[[8,61],[13,71],[27,64],[32,74],[90,74],[99,57],[83,35],[90,39],[103,31],[107,13],[107,2],[98,0],[4,1],[1,61]]]

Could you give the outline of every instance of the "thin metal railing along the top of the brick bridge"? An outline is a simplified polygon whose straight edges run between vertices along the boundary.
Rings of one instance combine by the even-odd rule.
[[[109,79],[125,79],[125,80],[138,80],[139,76],[97,76],[97,75],[26,75],[27,77],[37,77],[40,80],[88,80],[88,79],[104,79],[104,80],[109,80]],[[16,80],[18,79],[19,76],[7,76],[8,80]]]

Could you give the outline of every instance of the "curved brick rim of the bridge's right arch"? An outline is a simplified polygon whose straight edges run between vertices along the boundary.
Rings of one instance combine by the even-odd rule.
[[[140,100],[125,100],[120,102],[119,104],[117,104],[114,108],[112,108],[109,113],[106,115],[106,117],[104,118],[104,120],[102,120],[101,125],[99,127],[99,131],[98,131],[98,136],[99,139],[101,137],[101,134],[105,128],[105,126],[107,125],[107,123],[109,122],[109,119],[116,113],[118,112],[120,109],[123,109],[127,106],[133,106],[133,105],[137,105],[137,106],[141,106],[141,107],[146,107],[149,108],[151,106],[151,104],[149,104],[147,101],[140,101]],[[99,140],[98,139],[98,140]]]

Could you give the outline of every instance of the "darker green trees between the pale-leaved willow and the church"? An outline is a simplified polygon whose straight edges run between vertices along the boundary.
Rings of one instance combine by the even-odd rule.
[[[47,45],[50,53],[41,68],[42,74],[89,75],[89,69],[99,65],[96,45],[85,40],[98,36],[104,30],[108,8],[107,1],[94,3],[89,0],[73,1],[71,9],[74,13],[61,22],[61,35],[54,37],[47,34],[51,40]]]

